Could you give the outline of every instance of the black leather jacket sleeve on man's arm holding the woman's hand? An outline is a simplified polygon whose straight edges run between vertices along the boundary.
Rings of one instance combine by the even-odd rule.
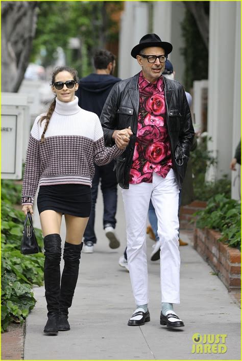
[[[114,144],[112,134],[117,128],[118,84],[119,82],[110,91],[100,116],[105,144],[110,147]]]

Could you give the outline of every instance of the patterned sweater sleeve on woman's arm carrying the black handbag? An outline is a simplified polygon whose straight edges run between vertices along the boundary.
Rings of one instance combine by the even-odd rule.
[[[39,130],[36,118],[31,130],[22,182],[22,205],[33,204],[40,176]]]

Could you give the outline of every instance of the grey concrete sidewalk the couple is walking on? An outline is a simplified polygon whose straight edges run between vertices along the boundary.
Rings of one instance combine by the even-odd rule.
[[[99,192],[101,193],[101,192]],[[240,309],[221,280],[191,245],[180,248],[181,304],[175,311],[185,327],[160,326],[159,261],[149,261],[151,322],[127,326],[135,309],[129,273],[119,267],[126,247],[123,200],[119,192],[117,227],[121,246],[108,247],[102,229],[102,199],[96,206],[94,253],[82,253],[78,285],[69,313],[70,331],[44,336],[44,288],[35,288],[37,303],[27,318],[24,359],[240,359]],[[35,225],[39,225],[35,210]],[[64,241],[64,218],[62,238]],[[184,240],[187,234],[181,233]],[[148,237],[148,257],[154,244]],[[62,264],[63,267],[63,264]],[[225,353],[192,353],[195,333],[227,334]]]

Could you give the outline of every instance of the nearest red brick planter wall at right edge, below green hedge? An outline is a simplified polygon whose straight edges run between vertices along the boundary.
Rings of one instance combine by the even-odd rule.
[[[193,235],[194,248],[214,269],[228,291],[240,290],[240,251],[218,241],[221,234],[213,229],[196,228]]]

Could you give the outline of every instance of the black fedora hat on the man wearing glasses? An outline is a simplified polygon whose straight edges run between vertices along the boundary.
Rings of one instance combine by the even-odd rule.
[[[139,44],[133,47],[131,50],[131,56],[136,59],[136,55],[139,54],[140,50],[151,46],[162,47],[165,50],[166,55],[170,54],[173,48],[172,44],[167,43],[166,41],[161,41],[158,35],[146,34],[140,39]]]

